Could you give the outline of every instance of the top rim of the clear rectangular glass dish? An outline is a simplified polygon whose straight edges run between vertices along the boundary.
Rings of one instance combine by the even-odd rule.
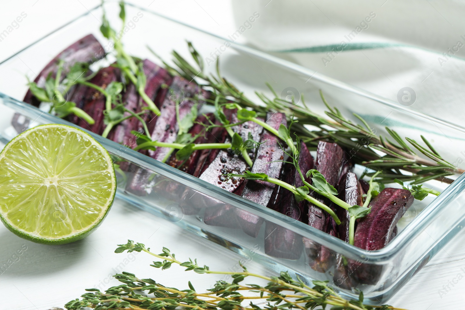
[[[111,4],[116,4],[118,2],[116,0],[106,2],[106,4],[110,4],[110,3]],[[420,119],[428,120],[428,121],[435,121],[435,122],[437,122],[437,123],[439,123],[441,125],[445,125],[445,126],[447,126],[449,128],[452,128],[452,129],[454,129],[456,131],[465,133],[465,127],[464,126],[452,124],[452,123],[449,123],[449,122],[441,120],[441,119],[437,119],[437,118],[434,118],[434,117],[427,116],[425,114],[422,115],[421,113],[419,113],[419,112],[417,112],[415,110],[408,109],[407,107],[404,107],[404,106],[399,106],[399,105],[395,104],[394,102],[392,102],[392,101],[390,101],[388,99],[382,98],[382,97],[380,97],[378,95],[372,94],[370,92],[366,92],[366,91],[364,91],[362,89],[351,86],[351,85],[346,84],[346,83],[344,83],[342,81],[339,81],[337,79],[332,79],[330,77],[327,77],[324,74],[317,73],[317,72],[315,72],[315,71],[313,71],[311,69],[308,69],[306,67],[297,65],[297,64],[292,63],[290,61],[287,61],[285,59],[280,59],[280,58],[278,58],[276,56],[267,54],[265,52],[261,52],[259,50],[256,50],[256,49],[250,47],[250,46],[246,46],[246,45],[242,45],[242,44],[239,44],[239,43],[232,42],[232,41],[230,41],[230,40],[228,40],[226,38],[223,38],[223,37],[221,37],[219,35],[206,32],[206,31],[204,31],[202,29],[199,29],[197,27],[193,27],[193,26],[190,26],[190,25],[188,25],[186,23],[180,22],[179,20],[175,20],[175,19],[167,17],[167,16],[165,16],[163,14],[160,14],[160,13],[154,12],[152,10],[149,10],[147,8],[140,7],[140,6],[136,5],[136,4],[133,4],[131,1],[126,2],[126,5],[129,5],[131,7],[134,7],[134,8],[140,9],[140,10],[143,10],[144,12],[147,12],[147,13],[151,13],[151,14],[159,17],[159,18],[169,20],[169,21],[171,21],[173,23],[176,23],[176,24],[179,24],[181,26],[188,27],[188,28],[190,28],[192,30],[198,31],[198,32],[203,33],[205,35],[212,36],[212,37],[214,37],[216,39],[226,40],[226,41],[230,42],[231,46],[236,48],[236,49],[246,51],[247,53],[252,53],[253,55],[255,55],[257,57],[260,57],[262,59],[266,59],[268,61],[271,61],[272,63],[278,64],[279,66],[283,66],[283,67],[286,67],[286,68],[291,69],[293,71],[303,73],[303,74],[305,74],[307,76],[311,76],[312,78],[315,78],[315,79],[317,79],[317,80],[319,80],[319,81],[321,81],[323,83],[338,87],[340,89],[343,89],[343,90],[346,90],[346,91],[349,91],[349,92],[353,92],[355,94],[361,95],[361,96],[363,96],[365,98],[368,98],[368,99],[378,101],[379,103],[381,103],[383,105],[386,105],[386,106],[389,106],[390,108],[392,108],[393,110],[396,110],[398,112],[409,113],[409,114],[412,114],[412,116],[415,116],[415,117],[420,118]],[[92,14],[93,11],[98,10],[101,6],[102,6],[102,4],[99,4],[99,5],[91,8],[91,9],[89,9],[87,12],[85,12],[83,14],[80,14],[79,16],[74,18],[73,20],[70,20],[70,21],[66,22],[65,24],[61,25],[60,27],[58,27],[58,28],[54,29],[53,31],[47,33],[46,35],[42,36],[38,40],[35,40],[33,43],[31,43],[28,46],[22,48],[20,51],[18,51],[16,53],[14,53],[13,55],[7,57],[6,59],[3,59],[2,61],[0,61],[0,66],[3,63],[7,62],[8,60],[12,59],[17,54],[20,54],[20,53],[28,50],[29,48],[33,47],[35,44],[37,44],[40,41],[46,39],[47,37],[53,35],[54,33],[57,33],[57,32],[59,32],[61,30],[65,30],[67,26],[70,26],[74,22],[76,22],[76,21],[78,21],[78,20],[80,20],[82,18],[85,18],[89,14]],[[66,125],[71,125],[71,126],[74,126],[74,127],[79,127],[79,126],[76,126],[76,125],[74,125],[74,124],[72,124],[70,122],[67,122],[64,119],[60,119],[60,118],[58,118],[56,116],[53,116],[51,114],[42,112],[38,108],[36,108],[34,106],[31,106],[31,105],[28,105],[27,103],[24,103],[24,102],[22,102],[22,101],[20,101],[18,99],[13,99],[13,98],[3,94],[2,92],[0,92],[0,98],[6,99],[5,105],[13,108],[13,110],[15,110],[16,112],[20,112],[20,113],[23,112],[23,113],[26,113],[27,115],[35,115],[37,117],[37,119],[42,118],[42,119],[44,119],[46,121],[49,121],[50,123],[66,124]],[[117,153],[123,147],[122,145],[117,144],[116,142],[113,142],[113,141],[111,141],[109,139],[103,138],[100,135],[97,135],[97,134],[95,134],[93,132],[89,132],[88,130],[83,129],[81,127],[79,127],[79,128],[86,131],[86,132],[88,132],[89,134],[91,134],[95,139],[97,139],[110,152],[114,151],[114,153]],[[438,212],[440,212],[446,206],[447,201],[445,201],[445,200],[449,200],[449,198],[451,197],[451,194],[452,194],[451,191],[453,191],[455,188],[460,186],[461,183],[465,182],[465,175],[459,176],[456,179],[455,182],[453,182],[451,185],[449,185],[439,195],[439,197],[435,198],[432,201],[432,203],[428,204],[425,207],[425,209],[422,212],[420,212],[419,215],[416,218],[414,218],[413,221],[410,224],[408,224],[405,227],[405,229],[403,231],[401,231],[399,233],[399,235],[396,238],[394,238],[389,244],[387,244],[384,248],[382,248],[380,250],[367,251],[367,250],[357,248],[357,247],[355,247],[355,246],[353,246],[351,244],[347,244],[343,240],[340,240],[339,238],[332,237],[332,236],[326,234],[325,232],[319,231],[319,230],[317,230],[317,229],[315,229],[313,227],[310,227],[310,226],[308,226],[308,225],[306,225],[304,223],[301,223],[301,222],[288,223],[286,221],[287,217],[285,215],[283,215],[283,214],[280,214],[280,213],[277,213],[277,212],[275,212],[273,210],[264,208],[263,206],[261,206],[259,204],[253,203],[253,202],[251,202],[251,201],[249,201],[249,200],[247,200],[245,198],[234,195],[233,193],[230,193],[228,191],[223,191],[221,188],[219,188],[217,186],[211,185],[211,184],[207,183],[206,181],[202,181],[199,178],[195,178],[195,177],[193,177],[191,175],[188,175],[185,172],[179,171],[178,169],[175,169],[175,168],[173,168],[173,167],[171,167],[169,165],[163,164],[163,163],[161,163],[161,162],[159,162],[159,161],[157,161],[157,160],[155,160],[153,158],[142,155],[139,152],[133,151],[132,149],[125,148],[124,154],[123,154],[123,156],[121,156],[121,158],[124,158],[124,159],[126,159],[128,161],[134,162],[137,165],[140,165],[140,166],[142,166],[144,168],[153,170],[155,172],[164,171],[164,173],[166,175],[169,175],[170,177],[174,177],[175,180],[177,180],[177,181],[182,180],[183,182],[181,182],[181,183],[183,183],[183,184],[185,184],[187,186],[191,186],[191,187],[192,187],[192,185],[200,186],[200,188],[203,189],[202,192],[206,193],[207,195],[210,195],[210,196],[219,195],[222,199],[225,199],[227,202],[233,202],[233,205],[235,205],[235,206],[237,206],[239,204],[240,208],[242,208],[244,210],[252,211],[255,214],[259,215],[260,217],[273,218],[274,220],[277,220],[279,225],[285,227],[286,229],[290,229],[290,230],[300,234],[302,237],[306,237],[306,236],[310,237],[313,240],[321,243],[322,245],[328,246],[328,247],[338,251],[341,254],[345,254],[345,255],[349,254],[352,257],[359,257],[359,258],[362,258],[362,259],[365,259],[366,257],[369,257],[370,262],[373,262],[373,263],[384,262],[384,261],[389,260],[390,257],[395,256],[406,245],[408,245],[409,240],[414,239],[414,237],[422,229],[422,226],[430,224],[434,220],[435,215]],[[460,219],[458,219],[457,222],[459,222],[459,220]],[[450,229],[452,229],[454,226],[455,226],[455,224],[452,225],[450,227]],[[309,236],[309,234],[311,236]],[[399,236],[402,236],[402,237],[399,237]],[[442,237],[444,237],[444,236],[441,236],[441,238],[438,239],[438,241],[441,240]],[[433,246],[434,246],[434,244],[432,244],[432,247]],[[420,257],[420,259],[421,259],[421,257]]]

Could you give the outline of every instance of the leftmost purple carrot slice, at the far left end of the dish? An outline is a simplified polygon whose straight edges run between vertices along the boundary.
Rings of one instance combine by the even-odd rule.
[[[105,57],[105,50],[100,45],[99,41],[95,39],[92,34],[86,35],[84,38],[77,40],[70,46],[66,47],[61,53],[53,58],[34,79],[37,86],[45,86],[46,78],[49,74],[55,77],[58,70],[58,61],[63,60],[62,77],[68,73],[71,68],[77,62],[90,63],[98,59]],[[33,106],[39,106],[40,101],[37,100],[30,90],[27,91],[26,96],[23,99],[24,102],[32,104]]]

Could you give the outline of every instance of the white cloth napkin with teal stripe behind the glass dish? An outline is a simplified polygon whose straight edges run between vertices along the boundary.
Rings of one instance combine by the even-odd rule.
[[[234,0],[233,10],[238,27],[259,13],[243,33],[259,49],[465,126],[465,2]]]

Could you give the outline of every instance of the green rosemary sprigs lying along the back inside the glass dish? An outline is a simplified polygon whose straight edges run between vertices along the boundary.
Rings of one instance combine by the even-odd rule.
[[[374,171],[382,171],[379,174],[380,182],[392,183],[394,179],[400,179],[402,181],[412,181],[412,184],[418,184],[430,179],[436,179],[450,184],[453,179],[446,178],[447,176],[465,172],[442,158],[423,136],[420,137],[427,147],[423,147],[414,139],[402,139],[399,133],[388,127],[385,127],[385,130],[388,132],[389,137],[377,135],[374,129],[370,128],[368,123],[356,113],[353,113],[353,116],[359,120],[359,123],[345,118],[336,107],[331,107],[328,104],[321,90],[320,96],[327,108],[325,116],[313,112],[306,105],[303,98],[301,99],[301,106],[281,99],[269,84],[267,85],[272,91],[273,98],[268,98],[265,94],[256,92],[262,102],[255,103],[221,76],[218,61],[216,75],[207,74],[204,70],[202,57],[191,42],[187,42],[187,44],[196,66],[189,63],[176,51],[173,51],[175,66],[167,64],[162,59],[170,73],[197,81],[199,85],[212,91],[214,96],[221,97],[220,102],[233,101],[243,108],[252,108],[257,112],[274,110],[285,113],[289,119],[294,121],[292,130],[299,134],[307,145],[316,146],[319,140],[328,140],[344,146],[357,163],[372,168]],[[307,125],[315,126],[317,129],[310,130]],[[425,155],[427,158],[420,157],[418,153]]]

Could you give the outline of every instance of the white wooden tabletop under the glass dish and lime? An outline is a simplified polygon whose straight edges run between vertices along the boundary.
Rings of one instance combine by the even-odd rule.
[[[22,12],[27,14],[19,26],[0,41],[0,59],[27,46],[73,16],[85,13],[97,0],[20,0],[2,3],[0,33]],[[234,29],[231,4],[214,0],[141,0],[140,5],[173,16],[188,24],[215,33]],[[2,90],[0,85],[0,91]],[[1,111],[0,111],[1,115]],[[6,121],[0,119],[1,121]],[[196,289],[210,288],[210,277],[182,271],[157,270],[149,266],[152,259],[144,253],[115,254],[116,244],[126,239],[149,245],[152,249],[170,248],[179,258],[198,258],[215,270],[233,268],[239,256],[194,235],[186,234],[164,219],[147,216],[136,208],[116,201],[100,228],[85,240],[61,246],[34,244],[0,226],[0,309],[46,310],[63,307],[79,297],[85,288],[105,288],[117,282],[110,277],[124,270],[153,277],[158,282],[187,287],[192,280]],[[389,303],[412,310],[463,309],[465,303],[465,233],[461,232],[440,251]],[[18,250],[21,255],[13,256]],[[10,261],[9,261],[10,260]],[[10,264],[11,263],[11,264]],[[254,262],[249,269],[268,274]]]

